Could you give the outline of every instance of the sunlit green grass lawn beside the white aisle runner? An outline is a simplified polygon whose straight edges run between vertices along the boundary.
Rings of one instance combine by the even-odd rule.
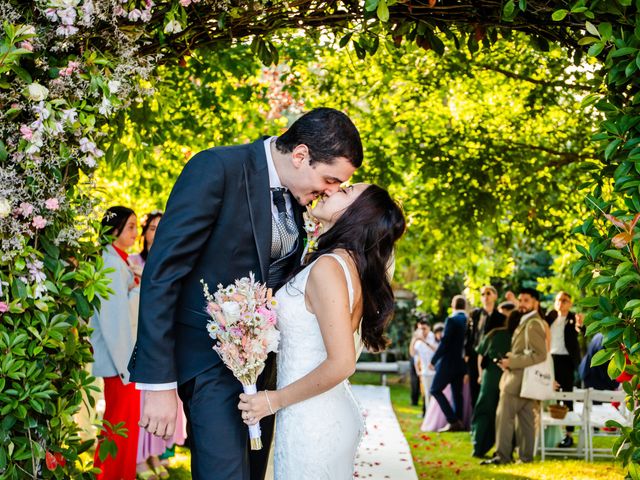
[[[380,384],[380,375],[356,374],[353,383]],[[389,376],[391,401],[400,426],[411,447],[413,461],[420,479],[484,479],[484,480],[613,480],[622,479],[622,468],[611,461],[594,463],[582,460],[536,461],[530,464],[481,466],[471,457],[471,439],[468,432],[424,433],[420,431],[420,407],[411,406],[409,387],[399,378]],[[607,439],[602,439],[607,440]],[[600,445],[596,445],[600,446]],[[169,468],[174,480],[189,480],[189,450],[178,448]],[[297,480],[297,479],[292,479]],[[402,480],[402,479],[394,479]]]

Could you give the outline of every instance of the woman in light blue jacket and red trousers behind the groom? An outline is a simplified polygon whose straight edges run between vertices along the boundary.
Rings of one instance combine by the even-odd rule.
[[[116,457],[101,461],[96,448],[94,464],[101,470],[98,480],[133,480],[136,477],[138,451],[138,421],[140,419],[140,392],[129,383],[127,363],[133,351],[138,320],[139,288],[136,275],[128,262],[127,250],[138,237],[138,220],[130,208],[116,206],[107,210],[102,227],[114,240],[104,245],[104,268],[111,269],[107,276],[113,291],[101,298],[100,309],[89,323],[93,329],[93,375],[104,380],[104,420],[111,425],[123,422],[127,436],[114,435],[105,427],[104,436],[117,447]]]

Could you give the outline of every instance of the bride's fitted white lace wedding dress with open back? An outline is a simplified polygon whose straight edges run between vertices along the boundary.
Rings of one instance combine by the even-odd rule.
[[[342,266],[353,309],[353,288],[346,262]],[[317,261],[317,260],[316,260]],[[318,319],[305,305],[304,292],[315,262],[276,293],[278,301],[278,389],[314,370],[326,357]],[[359,352],[359,335],[356,351]],[[353,478],[354,459],[364,434],[364,417],[348,381],[283,408],[276,416],[274,468],[276,480],[346,480]]]

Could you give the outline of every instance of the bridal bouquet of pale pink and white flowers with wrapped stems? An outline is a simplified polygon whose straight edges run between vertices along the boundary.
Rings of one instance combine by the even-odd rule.
[[[201,280],[207,300],[209,336],[213,349],[240,380],[244,393],[257,393],[256,381],[264,370],[269,352],[277,352],[280,332],[276,329],[276,301],[271,289],[256,282],[253,273],[236,280],[213,295]],[[249,426],[251,449],[260,450],[260,424]]]

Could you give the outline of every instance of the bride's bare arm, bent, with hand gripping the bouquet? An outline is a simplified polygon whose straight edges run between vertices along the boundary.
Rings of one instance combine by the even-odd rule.
[[[253,419],[245,420],[247,424],[270,415],[269,402],[275,413],[280,408],[326,392],[355,371],[356,353],[347,282],[342,267],[335,259],[323,257],[312,267],[306,299],[309,310],[318,318],[327,358],[307,375],[281,390],[241,394],[238,408],[247,412],[243,418]]]

